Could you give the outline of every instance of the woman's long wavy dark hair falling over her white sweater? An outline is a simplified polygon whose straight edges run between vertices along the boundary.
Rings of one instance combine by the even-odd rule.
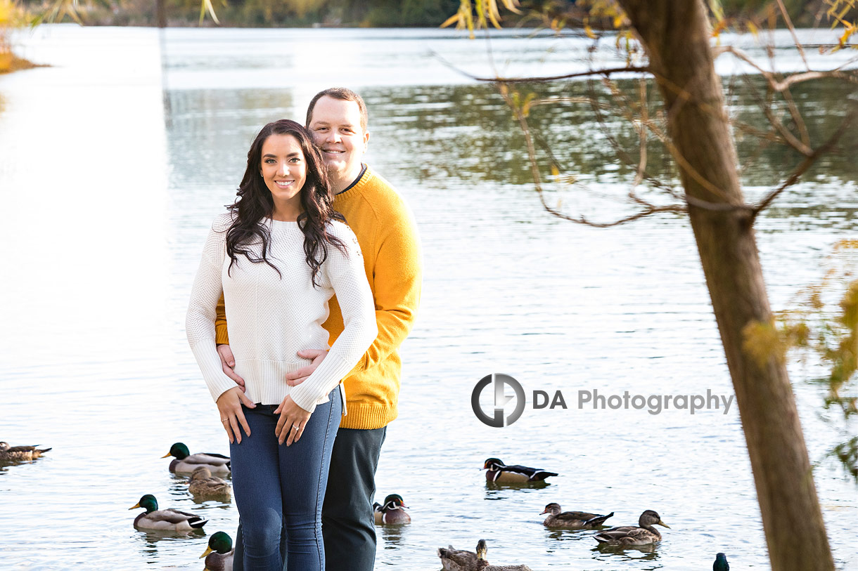
[[[227,273],[238,256],[244,255],[253,263],[263,262],[280,270],[269,261],[271,232],[263,219],[274,213],[274,199],[265,185],[262,169],[263,144],[271,135],[292,135],[299,142],[307,165],[307,176],[300,189],[301,207],[304,212],[298,215],[298,226],[304,232],[304,255],[312,270],[312,283],[318,286],[319,268],[328,258],[328,247],[334,246],[346,254],[346,245],[335,236],[331,236],[325,226],[331,220],[345,221],[341,213],[331,206],[334,195],[328,181],[328,170],[324,165],[322,153],[313,143],[310,133],[300,124],[288,119],[269,123],[259,131],[251,150],[247,152],[247,170],[239,185],[238,198],[228,206],[233,212],[233,224],[227,229],[227,255],[230,257]],[[256,255],[250,248],[252,243],[262,243],[262,256]]]

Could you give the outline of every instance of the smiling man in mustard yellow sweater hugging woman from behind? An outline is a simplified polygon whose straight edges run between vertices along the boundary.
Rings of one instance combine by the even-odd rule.
[[[322,510],[326,567],[331,571],[372,571],[376,551],[372,515],[375,471],[387,424],[396,418],[401,374],[398,349],[420,304],[420,244],[414,219],[402,198],[362,162],[370,134],[360,95],[341,87],[317,93],[307,108],[306,126],[328,166],[334,208],[346,217],[360,243],[378,322],[378,337],[343,379],[347,414],[334,442]],[[235,362],[228,345],[222,299],[216,324],[218,352],[224,372],[243,386],[244,381],[233,372]],[[324,328],[333,344],[343,323],[335,298],[329,306]],[[288,375],[288,384],[302,382],[327,353],[327,348],[299,352],[299,357],[312,359],[312,363]],[[238,554],[240,537],[236,543]],[[239,558],[235,558],[237,569]]]

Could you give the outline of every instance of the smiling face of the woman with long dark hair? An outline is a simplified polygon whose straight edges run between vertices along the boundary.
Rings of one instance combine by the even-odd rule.
[[[265,186],[271,191],[275,210],[300,212],[301,189],[307,179],[307,163],[301,145],[293,135],[270,135],[263,142],[259,167]]]

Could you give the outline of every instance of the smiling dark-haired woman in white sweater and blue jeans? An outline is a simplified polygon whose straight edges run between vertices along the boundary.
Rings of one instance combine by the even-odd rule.
[[[358,241],[331,207],[321,153],[299,123],[263,127],[238,196],[208,234],[188,341],[229,436],[245,569],[282,569],[285,520],[288,568],[322,571],[322,502],[345,410],[337,385],[377,334],[372,292]],[[215,348],[221,291],[246,394],[223,373]],[[345,330],[317,370],[289,387],[287,373],[307,363],[296,353],[327,346],[322,324],[334,293]]]

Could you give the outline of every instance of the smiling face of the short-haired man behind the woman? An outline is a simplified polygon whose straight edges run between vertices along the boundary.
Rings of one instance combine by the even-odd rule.
[[[357,178],[370,140],[370,134],[360,127],[358,104],[325,95],[313,107],[309,127],[322,148],[329,175],[341,181]]]

